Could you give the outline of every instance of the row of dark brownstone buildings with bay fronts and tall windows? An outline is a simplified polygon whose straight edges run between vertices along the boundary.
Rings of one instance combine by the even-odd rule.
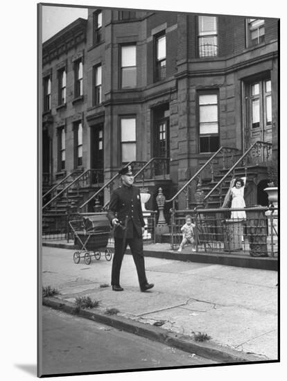
[[[45,189],[85,172],[81,205],[123,163],[162,158],[164,177],[154,166],[145,182],[154,209],[159,186],[170,198],[221,146],[241,157],[272,143],[276,161],[278,33],[278,19],[89,9],[43,44]],[[247,204],[265,202],[266,153],[259,159]],[[99,196],[107,202],[110,188]]]

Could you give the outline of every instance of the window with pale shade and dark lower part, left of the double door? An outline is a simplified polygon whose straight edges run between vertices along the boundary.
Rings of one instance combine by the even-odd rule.
[[[200,94],[198,100],[200,152],[216,152],[219,148],[218,95]]]

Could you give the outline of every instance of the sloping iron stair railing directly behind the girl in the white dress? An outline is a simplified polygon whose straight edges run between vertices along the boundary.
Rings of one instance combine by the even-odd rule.
[[[267,143],[265,141],[256,141],[254,144],[248,148],[248,150],[234,163],[234,165],[225,173],[225,175],[218,181],[218,183],[207,193],[204,197],[203,202],[208,206],[208,199],[212,193],[215,192],[218,187],[220,187],[220,195],[222,195],[222,186],[225,179],[232,174],[235,177],[235,169],[238,167],[243,167],[245,172],[245,177],[247,177],[247,165],[255,163],[259,166],[259,158],[269,161],[271,159],[272,143]]]

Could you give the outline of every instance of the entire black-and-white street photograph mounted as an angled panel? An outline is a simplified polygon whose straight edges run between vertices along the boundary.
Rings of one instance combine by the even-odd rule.
[[[37,376],[263,369],[280,14],[134,6],[37,4]]]

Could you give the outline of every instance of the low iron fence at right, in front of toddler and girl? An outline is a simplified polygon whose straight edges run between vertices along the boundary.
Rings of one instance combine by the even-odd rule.
[[[245,211],[246,218],[232,218],[235,211]],[[278,255],[278,217],[275,208],[256,206],[245,209],[172,210],[170,231],[173,250],[182,242],[180,229],[186,215],[191,215],[194,224],[192,245],[195,251],[250,256]],[[184,252],[191,252],[189,246]]]

